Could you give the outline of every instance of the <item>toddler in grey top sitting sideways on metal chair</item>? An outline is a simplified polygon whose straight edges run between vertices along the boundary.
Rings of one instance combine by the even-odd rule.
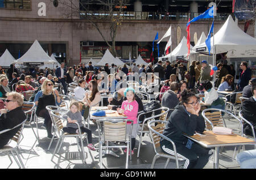
[[[66,115],[64,115],[64,118],[67,118],[68,123],[67,123],[67,127],[63,127],[63,131],[68,132],[70,134],[75,134],[75,133],[79,134],[79,129],[75,124],[76,122],[79,123],[81,132],[87,133],[87,137],[88,137],[87,147],[92,151],[95,151],[96,149],[92,144],[92,131],[89,128],[84,127],[82,123],[82,114],[79,111],[79,103],[77,101],[71,101],[69,109],[70,110],[66,113]]]

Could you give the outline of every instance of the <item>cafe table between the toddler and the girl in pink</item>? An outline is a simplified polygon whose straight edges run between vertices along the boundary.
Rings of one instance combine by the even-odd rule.
[[[105,107],[108,108],[108,107]],[[106,115],[104,116],[93,116],[92,114],[94,112],[96,112],[97,109],[102,109],[102,106],[93,106],[90,110],[90,119],[126,119],[127,116],[125,114],[118,114],[117,110],[114,111],[114,113],[106,113]],[[109,143],[109,142],[106,142]],[[102,151],[102,155],[113,155],[116,157],[119,157],[116,153],[114,153],[112,150],[110,149],[106,149],[104,151]],[[97,158],[99,155],[96,155],[95,157]]]

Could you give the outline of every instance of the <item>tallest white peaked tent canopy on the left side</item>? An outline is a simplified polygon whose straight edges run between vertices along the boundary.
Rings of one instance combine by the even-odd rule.
[[[55,63],[49,55],[44,52],[42,46],[39,44],[38,40],[35,40],[30,49],[19,59],[15,61],[15,63],[23,64],[24,62],[28,63]]]

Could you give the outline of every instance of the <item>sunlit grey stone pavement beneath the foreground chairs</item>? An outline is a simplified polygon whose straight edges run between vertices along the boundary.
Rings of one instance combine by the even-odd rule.
[[[239,125],[235,121],[228,121],[228,125],[232,126],[234,129],[238,129]],[[39,143],[36,141],[35,135],[33,134],[30,126],[25,126],[23,130],[23,140],[20,143],[20,156],[24,166],[27,169],[99,169],[99,160],[94,156],[97,155],[97,151],[89,151],[84,143],[86,163],[82,164],[82,156],[77,150],[77,144],[75,138],[66,138],[64,140],[63,146],[60,149],[59,155],[55,155],[51,161],[52,153],[54,151],[57,140],[54,140],[51,148],[47,151],[49,139],[46,138],[46,130],[42,127],[43,122],[39,123]],[[32,125],[34,130],[36,130],[35,125]],[[90,126],[93,132],[93,144],[98,142],[98,132],[97,127],[93,123]],[[241,128],[241,127],[240,127]],[[155,155],[154,148],[152,146],[149,136],[144,136],[141,146],[141,155],[137,158],[137,148],[138,148],[139,138],[137,136],[134,155],[132,160],[129,160],[129,169],[150,169],[152,159]],[[253,149],[253,145],[246,145],[246,149]],[[220,168],[221,169],[237,169],[240,166],[237,164],[236,160],[232,159],[234,152],[234,147],[225,147],[220,155]],[[114,157],[112,155],[106,155],[103,157],[104,168],[125,168],[125,154],[122,149],[116,152],[120,157]],[[8,156],[0,153],[0,168],[19,168],[16,165],[14,159],[13,162],[10,161]],[[164,168],[166,158],[159,158],[156,160],[155,167]],[[182,165],[183,162],[179,163]],[[175,161],[171,160],[167,168],[175,168]],[[213,168],[213,161],[209,160],[208,164],[205,166],[206,169]]]

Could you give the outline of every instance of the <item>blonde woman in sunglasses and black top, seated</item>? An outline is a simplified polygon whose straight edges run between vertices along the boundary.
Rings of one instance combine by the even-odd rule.
[[[53,89],[53,83],[51,80],[44,80],[41,91],[36,93],[34,102],[37,106],[36,108],[36,115],[39,117],[44,118],[44,127],[46,127],[47,130],[47,138],[51,139],[52,138],[52,132],[51,132],[51,127],[52,127],[52,121],[51,117],[49,115],[48,110],[46,109],[46,106],[48,105],[60,105],[61,104],[61,99],[59,96],[59,92],[57,89]]]

